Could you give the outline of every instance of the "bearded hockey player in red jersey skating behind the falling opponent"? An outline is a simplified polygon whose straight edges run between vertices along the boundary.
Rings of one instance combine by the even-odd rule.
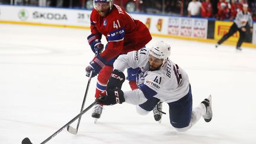
[[[101,37],[105,36],[108,43],[103,47]],[[95,98],[107,87],[108,79],[113,71],[114,60],[121,54],[139,50],[152,39],[148,28],[139,20],[134,20],[113,0],[94,0],[94,9],[91,12],[91,35],[88,43],[97,55],[87,66],[87,76],[92,71],[92,77],[97,77]],[[103,50],[104,49],[104,50]],[[101,53],[102,52],[102,53]],[[136,73],[139,69],[128,69],[130,87],[136,89]],[[99,119],[103,106],[96,104],[92,117]]]

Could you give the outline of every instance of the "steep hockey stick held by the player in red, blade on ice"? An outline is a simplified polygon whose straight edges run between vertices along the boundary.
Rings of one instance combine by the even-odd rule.
[[[82,107],[81,107],[81,111],[82,112],[84,110],[84,104],[85,104],[85,100],[87,98],[87,93],[88,93],[88,89],[89,89],[89,84],[91,83],[91,77],[92,77],[92,71],[89,73],[89,79],[88,79],[88,83],[87,83],[87,88],[85,90],[85,95],[84,95],[84,100],[83,100],[83,103],[82,103]],[[78,127],[79,127],[79,124],[80,124],[80,121],[81,121],[81,117],[79,117],[78,119],[78,124],[76,125],[76,129],[73,128],[72,126],[68,126],[67,127],[67,130],[69,133],[72,133],[73,135],[76,135],[77,132],[78,132]]]

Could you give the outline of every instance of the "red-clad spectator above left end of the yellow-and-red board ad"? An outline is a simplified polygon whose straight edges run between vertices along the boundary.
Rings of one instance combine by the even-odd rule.
[[[217,9],[217,20],[224,20],[229,18],[228,2],[225,2],[225,0],[220,0],[217,4]]]

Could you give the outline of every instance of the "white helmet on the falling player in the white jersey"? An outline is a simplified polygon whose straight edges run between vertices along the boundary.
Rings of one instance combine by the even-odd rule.
[[[167,60],[167,58],[171,55],[171,46],[164,41],[158,41],[157,43],[153,44],[151,49],[149,50],[149,54],[158,58]]]

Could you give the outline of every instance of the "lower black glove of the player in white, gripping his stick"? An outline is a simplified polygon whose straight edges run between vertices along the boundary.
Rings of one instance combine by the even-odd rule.
[[[100,95],[104,95],[104,98],[99,101],[103,105],[121,104],[125,101],[123,91],[119,88],[107,89],[107,91],[101,92]]]

